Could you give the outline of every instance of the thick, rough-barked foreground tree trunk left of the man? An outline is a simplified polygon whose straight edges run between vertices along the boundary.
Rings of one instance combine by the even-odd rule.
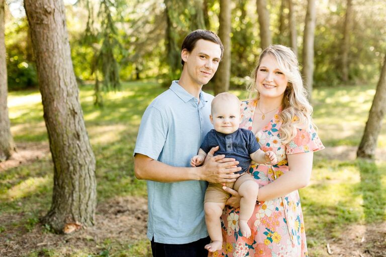
[[[52,204],[43,222],[57,232],[66,223],[90,226],[96,205],[95,158],[79,103],[64,4],[25,0],[24,7],[54,163]]]

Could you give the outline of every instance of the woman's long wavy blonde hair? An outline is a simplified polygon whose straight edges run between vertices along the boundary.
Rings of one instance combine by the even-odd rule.
[[[307,90],[303,86],[298,59],[291,48],[283,45],[270,45],[261,52],[257,66],[252,71],[252,82],[247,88],[249,99],[260,98],[256,87],[256,75],[261,60],[266,55],[270,55],[276,61],[278,69],[288,79],[281,103],[282,111],[279,114],[282,121],[279,130],[280,139],[283,144],[287,144],[295,138],[297,129],[306,129],[310,124],[317,129],[311,117],[313,108],[307,99]]]

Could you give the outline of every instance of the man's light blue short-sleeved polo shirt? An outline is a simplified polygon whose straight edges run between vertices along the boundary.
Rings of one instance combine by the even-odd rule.
[[[213,96],[198,99],[172,82],[142,116],[134,154],[146,155],[175,167],[190,167],[206,134],[213,129],[209,114]],[[147,237],[155,242],[182,244],[207,237],[205,181],[162,183],[147,181]]]

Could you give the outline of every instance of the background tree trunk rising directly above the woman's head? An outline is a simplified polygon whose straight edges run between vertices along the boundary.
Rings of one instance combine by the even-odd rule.
[[[269,30],[269,13],[265,0],[256,0],[257,15],[260,25],[260,46],[261,49],[267,48],[272,44],[271,31]]]

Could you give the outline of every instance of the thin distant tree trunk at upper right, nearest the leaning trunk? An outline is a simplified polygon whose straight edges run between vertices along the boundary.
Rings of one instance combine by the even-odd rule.
[[[350,29],[352,21],[352,5],[351,0],[347,0],[346,16],[343,27],[343,42],[342,42],[342,81],[348,81],[348,53],[350,50]]]

